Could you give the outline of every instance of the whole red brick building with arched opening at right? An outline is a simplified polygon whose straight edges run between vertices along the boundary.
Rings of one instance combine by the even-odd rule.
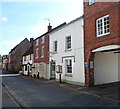
[[[84,0],[86,86],[119,81],[119,19],[120,2]]]

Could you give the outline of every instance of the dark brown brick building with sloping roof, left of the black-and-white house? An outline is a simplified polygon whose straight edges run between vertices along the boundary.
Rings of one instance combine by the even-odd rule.
[[[8,70],[18,72],[22,68],[22,56],[31,47],[30,41],[25,38],[16,45],[8,55]]]

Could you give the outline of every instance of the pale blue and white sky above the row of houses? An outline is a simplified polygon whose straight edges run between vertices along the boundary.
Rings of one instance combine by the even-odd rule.
[[[24,1],[24,2],[23,2]],[[25,38],[37,38],[83,15],[83,0],[1,0],[0,54],[6,55]]]

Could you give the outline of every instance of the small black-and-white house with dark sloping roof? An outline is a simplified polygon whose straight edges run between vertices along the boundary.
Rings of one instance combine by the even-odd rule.
[[[33,45],[23,55],[23,74],[27,76],[32,75],[32,64],[33,64]]]

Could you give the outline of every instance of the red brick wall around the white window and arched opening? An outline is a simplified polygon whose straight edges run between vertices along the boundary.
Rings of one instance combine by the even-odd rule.
[[[84,41],[85,41],[85,62],[89,64],[94,60],[92,50],[106,46],[120,44],[120,3],[118,2],[96,2],[88,5],[84,2]],[[96,20],[105,15],[110,16],[110,34],[96,37]],[[94,71],[85,68],[86,86],[94,85]]]

